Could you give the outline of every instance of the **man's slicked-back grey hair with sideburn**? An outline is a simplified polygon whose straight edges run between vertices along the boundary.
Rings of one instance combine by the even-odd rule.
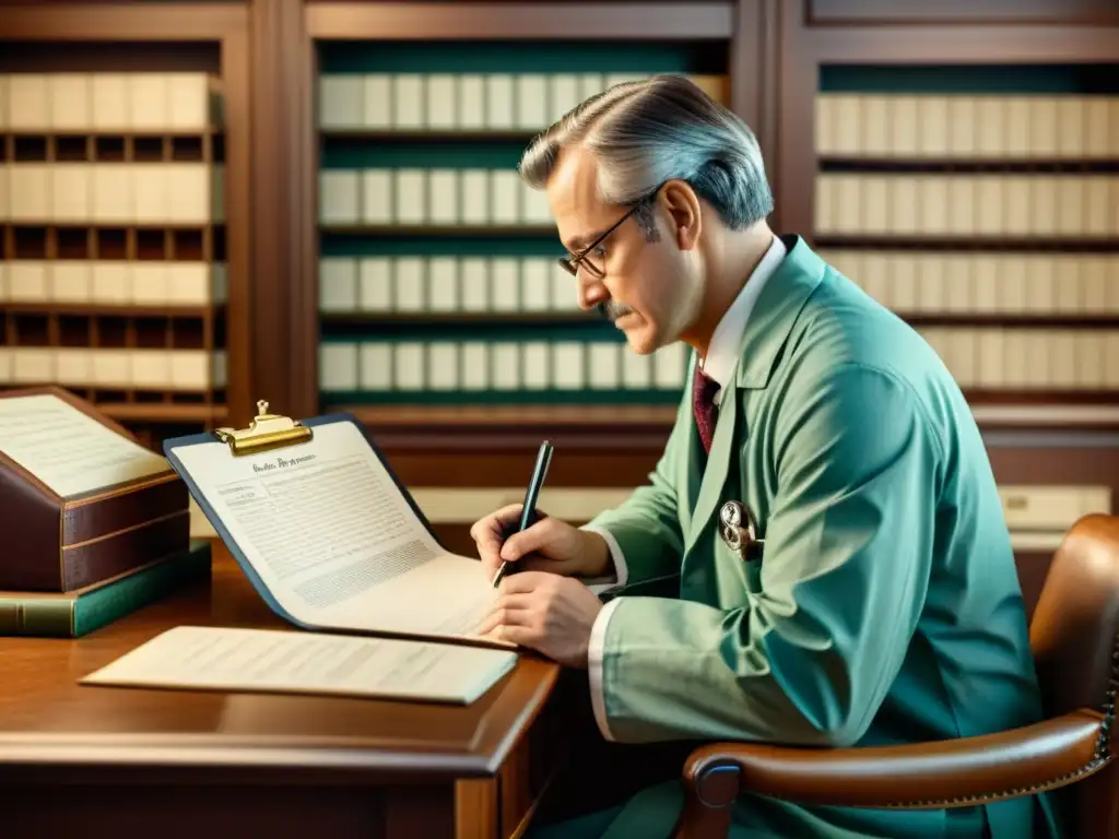
[[[560,150],[576,143],[599,161],[599,194],[608,204],[642,202],[678,178],[731,229],[744,229],[773,211],[754,133],[684,76],[623,82],[586,100],[529,143],[520,177],[544,189]],[[634,216],[652,238],[651,208],[640,206]]]

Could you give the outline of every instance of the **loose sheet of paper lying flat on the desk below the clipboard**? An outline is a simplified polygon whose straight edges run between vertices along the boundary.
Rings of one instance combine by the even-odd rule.
[[[469,705],[509,672],[516,661],[515,652],[463,644],[177,626],[81,681]]]

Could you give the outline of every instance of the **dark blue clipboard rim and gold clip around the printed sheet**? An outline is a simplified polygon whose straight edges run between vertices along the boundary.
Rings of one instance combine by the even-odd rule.
[[[360,628],[336,628],[327,626],[320,624],[308,623],[298,619],[295,615],[291,614],[290,611],[283,607],[283,605],[275,598],[272,591],[264,583],[261,576],[257,574],[256,568],[253,563],[250,562],[245,554],[243,546],[241,546],[234,535],[226,527],[222,517],[217,515],[217,511],[208,501],[206,494],[201,491],[201,488],[197,484],[190,471],[186,468],[185,463],[180,458],[180,452],[184,449],[199,445],[199,444],[213,444],[213,443],[224,443],[228,446],[229,458],[245,458],[253,454],[260,454],[262,452],[273,452],[278,450],[291,451],[293,456],[298,454],[299,447],[312,442],[316,439],[316,432],[333,424],[346,423],[354,425],[361,434],[363,440],[366,445],[373,451],[377,460],[380,461],[380,465],[385,470],[385,473],[392,480],[396,490],[401,493],[403,499],[406,501],[407,506],[411,508],[412,512],[415,515],[416,519],[426,530],[427,535],[431,537],[432,541],[444,553],[451,554],[446,546],[440,541],[431,521],[420,509],[420,506],[415,502],[412,493],[408,492],[407,488],[401,481],[399,477],[392,469],[388,460],[385,458],[384,452],[379,449],[376,441],[369,434],[368,427],[360,422],[352,414],[346,412],[323,414],[321,416],[310,417],[303,421],[295,421],[289,416],[281,414],[272,414],[269,412],[269,403],[265,400],[260,400],[256,403],[257,414],[250,423],[247,428],[229,428],[222,427],[216,428],[211,432],[204,432],[200,434],[190,434],[179,437],[170,437],[163,441],[163,453],[171,464],[171,468],[182,478],[187,484],[191,497],[197,501],[198,507],[206,516],[207,520],[214,527],[218,537],[228,548],[234,560],[237,563],[241,571],[244,573],[245,577],[250,581],[253,587],[256,590],[261,598],[267,604],[267,606],[280,618],[282,618],[288,623],[298,626],[299,629],[313,631],[313,632],[325,632],[325,633],[336,633],[336,634],[352,634],[352,635],[374,635],[374,637],[401,637],[401,638],[427,638],[429,640],[435,640],[439,643],[466,643],[466,644],[477,644],[485,647],[499,647],[508,648],[511,644],[501,643],[499,641],[493,641],[485,638],[469,638],[469,637],[458,637],[458,635],[424,635],[424,634],[413,634],[413,633],[397,633],[392,631],[377,631],[367,630]]]

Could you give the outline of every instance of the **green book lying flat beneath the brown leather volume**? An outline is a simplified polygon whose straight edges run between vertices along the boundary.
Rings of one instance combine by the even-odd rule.
[[[0,637],[79,638],[209,575],[210,546],[179,554],[73,592],[0,591]]]

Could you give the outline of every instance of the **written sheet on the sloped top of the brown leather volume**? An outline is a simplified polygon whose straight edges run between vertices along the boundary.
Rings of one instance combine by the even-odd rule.
[[[0,399],[0,451],[63,498],[170,469],[162,455],[50,394]]]

